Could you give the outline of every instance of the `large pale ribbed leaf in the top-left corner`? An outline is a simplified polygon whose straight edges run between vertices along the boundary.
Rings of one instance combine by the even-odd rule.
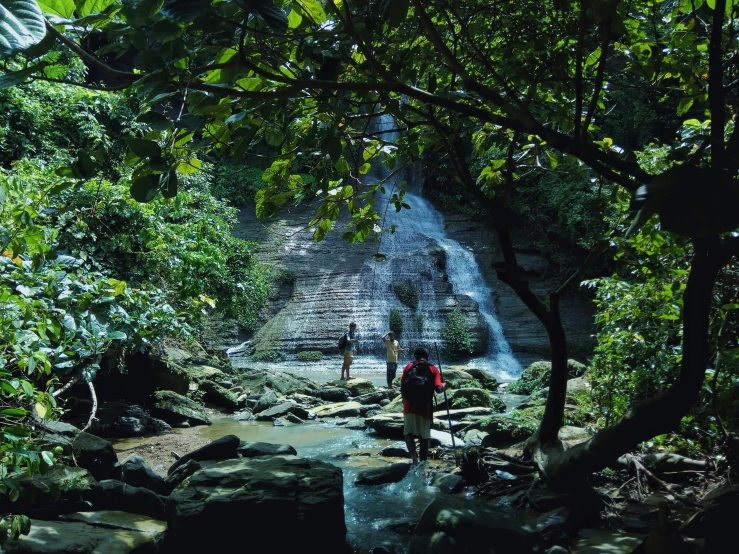
[[[0,59],[41,42],[44,17],[35,0],[0,0]]]

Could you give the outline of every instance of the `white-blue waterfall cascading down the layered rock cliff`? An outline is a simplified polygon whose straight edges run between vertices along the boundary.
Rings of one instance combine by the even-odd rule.
[[[370,131],[383,140],[394,142],[397,133],[392,129],[395,126],[392,116],[381,115],[372,121]],[[387,168],[374,164],[366,179],[368,182],[377,182],[388,175]],[[381,215],[390,195],[398,192],[401,180],[402,176],[395,176],[392,182],[386,184],[385,196],[378,197],[375,207]],[[434,263],[435,257],[429,254],[441,249],[445,254],[444,269],[452,291],[466,295],[477,303],[489,331],[487,355],[470,360],[469,365],[481,367],[500,377],[517,377],[522,367],[513,356],[503,334],[495,315],[493,291],[485,282],[474,254],[447,237],[442,215],[421,196],[407,192],[414,188],[418,188],[418,183],[411,184],[406,189],[404,199],[411,206],[410,210],[396,212],[393,205],[387,209],[383,227],[389,229],[396,225],[396,231],[385,231],[381,239],[380,252],[386,256],[387,261],[369,260],[365,264],[363,283],[368,290],[359,294],[355,308],[356,319],[362,320],[365,331],[379,335],[388,329],[390,310],[398,309],[403,313],[401,346],[428,346],[439,341],[444,321],[440,313],[441,307],[436,301],[436,290],[440,285],[443,286],[444,276],[443,270]],[[410,281],[419,292],[419,304],[415,312],[403,306],[393,292],[393,285],[406,281]],[[422,329],[419,329],[416,319],[419,315],[423,317]],[[373,354],[381,354],[382,350],[384,347],[381,343],[370,343],[365,349]]]

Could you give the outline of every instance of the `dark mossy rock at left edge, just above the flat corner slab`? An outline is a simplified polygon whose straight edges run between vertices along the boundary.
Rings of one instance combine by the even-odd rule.
[[[16,478],[20,496],[11,502],[0,496],[0,513],[25,513],[49,517],[85,507],[80,494],[98,486],[89,471],[80,467],[54,466],[41,475],[22,473]]]

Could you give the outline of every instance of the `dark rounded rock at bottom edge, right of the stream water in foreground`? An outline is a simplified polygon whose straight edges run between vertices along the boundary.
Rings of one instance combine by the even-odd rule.
[[[423,511],[408,553],[533,554],[532,541],[522,527],[512,509],[440,497]]]

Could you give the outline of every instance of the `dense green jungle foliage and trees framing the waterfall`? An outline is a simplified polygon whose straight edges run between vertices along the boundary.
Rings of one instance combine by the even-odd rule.
[[[317,241],[346,214],[339,232],[349,242],[391,232],[380,227],[376,193],[412,209],[390,183],[413,164],[445,178],[439,194],[490,221],[505,256],[498,276],[550,341],[549,395],[528,443],[547,479],[582,482],[681,429],[716,452],[734,444],[733,0],[1,0],[0,9],[16,16],[0,24],[4,94],[89,94],[125,111],[100,137],[58,137],[43,119],[40,131],[3,131],[12,149],[1,189],[5,429],[26,421],[30,398],[37,415],[53,410],[69,373],[91,379],[103,351],[192,332],[183,314],[238,294],[236,280],[263,290],[248,259],[229,265],[249,247],[225,237],[230,212],[198,181],[207,163],[239,165],[262,148],[272,161],[254,191],[257,215],[314,200]],[[371,131],[377,114],[393,116],[397,141]],[[388,177],[364,178],[380,158]],[[96,257],[99,245],[134,248],[91,221],[100,210],[137,229],[125,240],[143,245],[140,265],[122,272]],[[204,210],[223,223],[187,239],[207,244],[211,258],[185,263],[212,277],[189,290],[168,264],[151,270],[186,260],[177,251],[186,245],[158,239],[181,236],[184,221],[198,228]],[[517,260],[511,229],[522,221],[556,221],[562,251],[579,249],[568,257],[576,267],[543,297]],[[92,233],[105,240],[89,244]],[[588,280],[605,426],[565,450],[560,304],[597,259],[609,269]],[[211,272],[216,264],[239,274]],[[146,286],[160,278],[163,286]],[[249,313],[239,317],[248,323]],[[6,451],[27,444],[4,437]],[[6,457],[35,463],[24,452]]]

